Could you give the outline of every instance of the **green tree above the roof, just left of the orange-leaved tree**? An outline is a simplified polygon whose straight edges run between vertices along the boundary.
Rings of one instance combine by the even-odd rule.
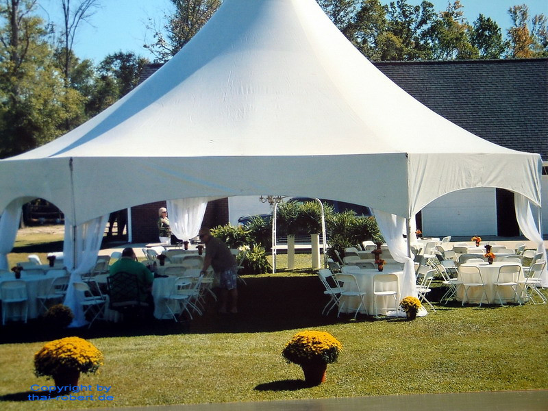
[[[499,25],[483,14],[479,14],[477,20],[473,23],[470,42],[477,49],[479,58],[482,59],[501,58],[506,49]]]

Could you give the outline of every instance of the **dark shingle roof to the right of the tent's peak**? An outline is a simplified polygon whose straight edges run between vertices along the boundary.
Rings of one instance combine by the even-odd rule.
[[[374,64],[449,121],[548,160],[548,59]]]

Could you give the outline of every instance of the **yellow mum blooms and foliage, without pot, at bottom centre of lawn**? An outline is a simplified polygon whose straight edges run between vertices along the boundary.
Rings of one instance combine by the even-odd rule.
[[[329,364],[338,360],[343,345],[334,336],[321,331],[299,332],[286,344],[282,356],[286,361],[295,364],[325,362]]]

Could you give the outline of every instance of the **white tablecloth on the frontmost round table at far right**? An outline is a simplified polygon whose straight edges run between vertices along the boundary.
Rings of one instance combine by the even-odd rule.
[[[489,304],[497,304],[499,303],[498,299],[495,299],[495,283],[497,282],[497,277],[499,275],[499,269],[501,266],[511,266],[516,265],[516,262],[493,262],[493,264],[488,264],[485,262],[484,264],[461,264],[460,266],[476,266],[479,268],[479,272],[482,274],[482,279],[485,284],[485,292],[487,295],[487,301]],[[461,281],[460,275],[457,276],[458,282]],[[479,282],[479,278],[477,280]],[[522,295],[523,292],[523,286],[525,285],[525,277],[523,275],[523,271],[519,274],[519,286],[517,288],[517,293],[519,296]],[[479,303],[479,300],[482,298],[482,289],[481,287],[472,287],[468,290],[468,297],[470,301],[466,299],[466,295],[464,295],[464,286],[462,284],[457,284],[457,295],[456,298],[458,301],[466,302],[472,302],[472,303]],[[508,287],[503,287],[499,290],[499,295],[501,295],[501,298],[503,301],[505,301],[505,298],[512,297],[513,291],[510,290]],[[508,300],[506,300],[508,301]],[[485,302],[485,297],[484,297]],[[517,299],[514,297],[514,302],[517,303]]]

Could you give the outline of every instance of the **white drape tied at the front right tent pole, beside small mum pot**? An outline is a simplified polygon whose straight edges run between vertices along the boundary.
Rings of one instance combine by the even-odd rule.
[[[403,233],[407,232],[406,219],[381,210],[373,210],[373,214],[390,254],[394,260],[405,264],[400,284],[401,298],[417,297],[414,262],[407,255],[407,242],[403,239]]]

